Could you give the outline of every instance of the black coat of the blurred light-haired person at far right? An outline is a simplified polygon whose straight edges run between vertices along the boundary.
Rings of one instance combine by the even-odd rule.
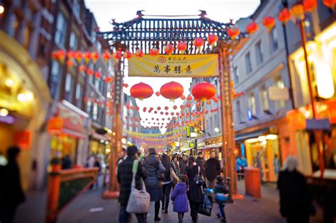
[[[308,192],[306,178],[301,173],[280,171],[277,185],[282,216],[309,215],[312,199]]]

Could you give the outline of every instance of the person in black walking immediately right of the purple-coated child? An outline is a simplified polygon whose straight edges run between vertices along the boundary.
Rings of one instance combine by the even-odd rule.
[[[199,171],[198,165],[196,164],[194,156],[189,156],[188,166],[186,166],[186,176],[188,178],[189,190],[186,193],[188,195],[189,205],[190,205],[190,215],[194,223],[198,219],[198,209],[203,202],[203,190],[202,184],[196,183],[196,178],[202,173]]]

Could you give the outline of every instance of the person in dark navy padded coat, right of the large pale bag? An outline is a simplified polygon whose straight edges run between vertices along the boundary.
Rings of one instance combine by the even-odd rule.
[[[157,151],[154,148],[148,149],[149,155],[143,161],[147,171],[147,179],[145,181],[147,192],[150,193],[150,201],[155,202],[155,221],[159,221],[159,202],[162,200],[162,176],[166,171],[162,166]]]

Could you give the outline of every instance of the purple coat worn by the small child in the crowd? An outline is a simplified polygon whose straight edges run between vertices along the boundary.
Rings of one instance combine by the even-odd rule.
[[[172,201],[174,201],[173,211],[178,213],[189,212],[188,197],[186,196],[187,190],[186,182],[179,182],[175,186],[172,193]]]

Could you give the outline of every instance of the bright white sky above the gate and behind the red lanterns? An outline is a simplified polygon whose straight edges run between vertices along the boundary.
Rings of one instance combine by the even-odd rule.
[[[260,0],[86,0],[86,7],[89,8],[96,18],[100,30],[108,31],[112,29],[110,24],[111,19],[115,18],[116,22],[122,23],[124,21],[130,21],[137,17],[135,13],[139,10],[145,10],[143,14],[145,15],[198,15],[198,10],[205,10],[207,17],[214,21],[220,21],[227,23],[230,19],[233,22],[242,17],[250,16],[257,6],[259,6]],[[198,16],[196,16],[197,18]],[[145,17],[146,18],[146,17]],[[150,18],[150,16],[148,16]],[[194,16],[195,18],[195,16]],[[127,72],[125,72],[127,73]],[[124,83],[129,85],[128,88],[124,88],[124,92],[129,95],[130,87],[133,84],[138,84],[139,82],[144,82],[152,86],[154,92],[159,91],[159,88],[170,81],[177,81],[182,86],[184,86],[184,95],[189,95],[190,78],[148,78],[148,77],[125,77]],[[180,112],[180,109],[173,110],[173,106],[182,104],[181,99],[177,99],[170,102],[169,99],[163,98],[162,96],[157,97],[155,94],[151,98],[147,98],[143,101],[137,99],[138,106],[140,107],[140,116],[142,120],[152,121],[152,118],[159,118],[160,123],[162,118],[171,118],[170,113]],[[169,106],[169,116],[166,115],[155,115],[154,113],[143,113],[143,107],[153,107],[157,108],[160,106]],[[165,112],[165,110],[164,110]],[[155,115],[155,116],[153,116]],[[146,123],[148,122],[146,121]],[[144,125],[144,123],[142,122]],[[148,126],[144,125],[144,126]],[[162,132],[165,130],[162,129]]]

